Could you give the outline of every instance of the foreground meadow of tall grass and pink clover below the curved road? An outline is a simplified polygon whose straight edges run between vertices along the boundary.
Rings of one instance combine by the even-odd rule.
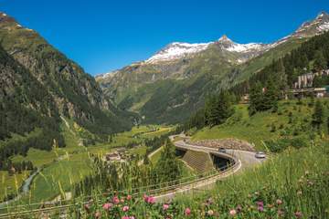
[[[95,195],[73,208],[71,217],[328,218],[328,155],[328,142],[289,149],[260,167],[217,183],[210,191],[180,195],[168,202],[156,202],[147,194]]]

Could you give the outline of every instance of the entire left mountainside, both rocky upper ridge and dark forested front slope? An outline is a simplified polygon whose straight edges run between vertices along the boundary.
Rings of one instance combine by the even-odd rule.
[[[39,36],[0,13],[0,169],[14,154],[34,147],[64,147],[60,116],[74,120],[98,141],[132,126],[95,79]]]

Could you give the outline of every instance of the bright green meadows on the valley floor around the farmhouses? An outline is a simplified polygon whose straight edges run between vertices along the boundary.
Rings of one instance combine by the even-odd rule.
[[[73,122],[69,120],[70,127],[73,127]],[[80,132],[78,130],[69,130],[68,127],[62,124],[63,136],[66,141],[66,148],[55,149],[52,151],[40,151],[31,149],[27,153],[27,157],[17,155],[13,157],[14,162],[31,161],[37,167],[44,167],[41,174],[37,175],[32,184],[32,189],[23,203],[35,203],[47,201],[55,198],[62,191],[69,191],[72,183],[77,183],[83,176],[90,174],[92,166],[90,162],[90,154],[104,154],[115,150],[116,147],[124,146],[132,141],[140,142],[144,139],[161,136],[164,133],[172,130],[173,127],[162,127],[159,125],[134,127],[130,131],[118,133],[112,143],[96,144],[94,146],[82,147],[79,146]],[[140,145],[129,150],[131,154],[139,154],[143,157],[146,153],[146,147]],[[68,157],[69,154],[69,157]],[[59,160],[59,161],[58,161]],[[5,181],[5,187],[14,188],[12,191],[16,193],[17,187],[22,183],[23,175],[9,177],[5,172],[1,172],[2,179]],[[15,178],[17,180],[15,180]],[[61,187],[61,189],[60,189]],[[3,186],[1,186],[3,188]],[[1,196],[0,196],[1,198]]]

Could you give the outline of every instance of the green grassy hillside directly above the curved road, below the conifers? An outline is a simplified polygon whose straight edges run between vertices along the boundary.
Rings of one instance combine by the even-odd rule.
[[[226,123],[213,128],[198,130],[192,136],[192,141],[222,138],[238,138],[254,143],[256,148],[263,149],[262,141],[276,140],[281,138],[281,132],[285,129],[298,129],[303,120],[312,120],[313,107],[309,107],[303,100],[302,105],[296,105],[296,101],[281,101],[279,113],[269,111],[257,113],[249,117],[248,105],[238,105],[232,118]],[[292,112],[293,124],[289,124],[289,113]],[[281,115],[280,115],[281,114]],[[274,124],[276,131],[271,132]],[[283,126],[280,129],[280,126]],[[301,128],[301,127],[299,127]]]

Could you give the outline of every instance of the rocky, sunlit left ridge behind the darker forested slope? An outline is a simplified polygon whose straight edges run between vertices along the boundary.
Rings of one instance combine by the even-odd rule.
[[[129,115],[104,98],[94,78],[36,31],[19,25],[4,13],[0,13],[0,45],[46,89],[58,114],[76,120],[96,134],[130,127]]]

